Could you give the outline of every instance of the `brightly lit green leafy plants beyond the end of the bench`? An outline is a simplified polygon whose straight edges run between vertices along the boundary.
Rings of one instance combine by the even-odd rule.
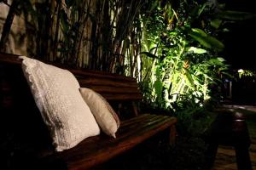
[[[152,3],[143,16],[143,49],[148,50],[142,53],[148,65],[143,67],[145,98],[174,111],[183,99],[198,104],[194,109],[202,105],[228,71],[218,57],[224,44],[215,38],[216,26],[211,26],[214,7],[194,1],[179,5],[175,11],[171,3]]]

